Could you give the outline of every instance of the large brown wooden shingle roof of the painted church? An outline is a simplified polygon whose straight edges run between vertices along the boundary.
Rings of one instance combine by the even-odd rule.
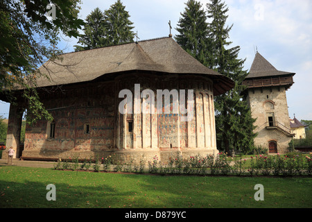
[[[61,58],[40,67],[51,80],[38,78],[37,87],[83,83],[125,71],[209,76],[214,81],[215,95],[234,87],[233,80],[202,65],[171,37],[66,53]]]

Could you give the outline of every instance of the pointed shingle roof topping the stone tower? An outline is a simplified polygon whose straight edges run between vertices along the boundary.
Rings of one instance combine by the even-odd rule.
[[[249,74],[246,78],[261,78],[267,76],[295,75],[293,72],[279,71],[268,62],[259,52],[256,53]]]

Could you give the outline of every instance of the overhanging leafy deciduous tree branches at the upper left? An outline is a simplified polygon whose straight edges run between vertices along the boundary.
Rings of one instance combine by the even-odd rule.
[[[33,121],[51,119],[37,96],[36,78],[43,74],[38,68],[46,60],[56,60],[62,53],[55,46],[60,33],[77,37],[84,24],[77,19],[80,0],[3,0],[0,2],[0,93],[10,103],[16,95],[12,89],[22,89],[25,107]],[[47,13],[53,4],[53,16]],[[44,76],[49,78],[49,76]],[[31,96],[31,97],[30,97]]]

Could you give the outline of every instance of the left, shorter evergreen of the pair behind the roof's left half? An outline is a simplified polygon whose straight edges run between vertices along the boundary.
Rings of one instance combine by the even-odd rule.
[[[100,8],[95,8],[86,18],[86,25],[83,28],[84,34],[80,35],[78,43],[83,46],[76,46],[75,51],[85,49],[96,49],[107,45],[105,37],[104,14]]]

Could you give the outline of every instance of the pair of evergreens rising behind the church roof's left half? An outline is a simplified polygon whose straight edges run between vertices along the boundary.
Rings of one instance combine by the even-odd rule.
[[[104,12],[95,8],[87,16],[84,34],[78,41],[83,46],[77,45],[75,51],[133,42],[135,33],[131,30],[134,27],[129,18],[129,12],[120,0]]]

